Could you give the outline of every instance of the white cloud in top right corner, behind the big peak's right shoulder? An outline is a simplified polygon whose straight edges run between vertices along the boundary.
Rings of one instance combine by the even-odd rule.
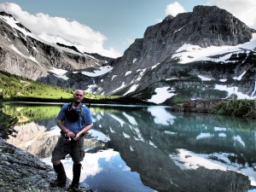
[[[229,11],[239,20],[256,29],[256,1],[255,0],[209,0],[207,5],[216,5],[218,8]]]

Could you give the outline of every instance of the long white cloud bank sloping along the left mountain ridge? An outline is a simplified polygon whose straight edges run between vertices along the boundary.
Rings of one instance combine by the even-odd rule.
[[[103,44],[108,38],[101,32],[96,32],[90,26],[85,26],[77,20],[67,20],[43,13],[31,15],[15,3],[0,3],[0,9],[13,15],[33,34],[46,42],[73,45],[81,52],[98,53],[109,57],[121,55],[113,47],[104,49]]]

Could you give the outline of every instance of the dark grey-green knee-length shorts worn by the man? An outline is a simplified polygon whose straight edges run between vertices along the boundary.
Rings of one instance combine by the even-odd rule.
[[[65,160],[67,154],[70,154],[74,163],[84,160],[84,137],[79,137],[78,141],[71,140],[64,143],[64,137],[60,136],[52,152],[51,161]]]

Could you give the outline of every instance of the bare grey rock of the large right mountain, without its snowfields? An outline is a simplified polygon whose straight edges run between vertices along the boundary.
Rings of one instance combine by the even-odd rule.
[[[201,48],[244,44],[253,37],[253,32],[256,31],[218,7],[196,6],[192,13],[183,13],[176,17],[169,15],[161,23],[149,26],[143,39],[137,39],[134,44],[131,44],[122,58],[114,63],[113,71],[104,77],[104,83],[98,84],[98,91],[105,94],[123,95],[132,86],[136,86],[136,91],[128,95],[145,99],[152,96],[156,87],[172,85],[176,90],[177,88],[186,89],[189,86],[200,89],[200,79],[195,81],[199,74],[212,79],[232,79],[236,77],[236,72],[242,73],[246,67],[255,70],[253,60],[248,59],[255,57],[253,51],[247,53],[244,58],[238,59],[237,62],[230,61],[229,71],[227,65],[220,66],[215,63],[214,66],[213,62],[211,65],[213,71],[209,70],[208,64],[206,67],[201,67],[201,62],[179,65],[171,57],[183,44],[199,45]],[[160,65],[154,67],[157,64]],[[129,75],[127,75],[128,71],[130,71]],[[189,77],[193,76],[195,79],[191,81]],[[172,84],[170,84],[171,81],[166,81],[166,79],[175,78],[182,79],[181,81],[172,80]],[[253,91],[255,75],[251,73],[251,76],[248,75],[247,78],[244,80],[247,84],[251,84],[250,88],[244,87],[245,82],[236,82],[243,93]],[[111,82],[111,84],[106,84],[106,82]],[[198,93],[190,92],[188,97],[198,98],[198,95]],[[219,94],[217,97],[222,96],[224,95]],[[215,98],[213,95],[209,97]]]

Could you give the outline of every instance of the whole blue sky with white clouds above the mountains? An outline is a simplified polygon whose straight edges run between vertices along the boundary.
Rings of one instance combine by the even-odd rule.
[[[256,28],[255,0],[0,0],[0,10],[48,42],[117,57],[166,15],[217,5]]]

